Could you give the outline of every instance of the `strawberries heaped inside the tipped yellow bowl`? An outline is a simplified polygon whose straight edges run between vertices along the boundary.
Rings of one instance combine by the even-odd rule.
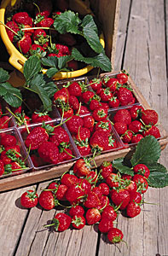
[[[24,11],[8,16],[5,25],[10,41],[26,57],[71,55],[77,39],[70,33],[59,34],[53,27],[55,17],[69,9],[68,1],[38,0],[34,3],[25,1]],[[78,61],[69,61],[67,67],[77,70]]]

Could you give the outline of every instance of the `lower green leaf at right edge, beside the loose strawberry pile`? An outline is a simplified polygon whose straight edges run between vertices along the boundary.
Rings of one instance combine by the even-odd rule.
[[[150,175],[148,177],[148,185],[153,188],[164,188],[168,186],[168,171],[165,166],[159,163],[148,165]]]

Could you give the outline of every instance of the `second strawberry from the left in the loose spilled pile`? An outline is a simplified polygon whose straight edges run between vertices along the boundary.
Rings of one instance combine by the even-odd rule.
[[[45,210],[51,210],[55,207],[55,198],[51,191],[42,191],[38,202]]]

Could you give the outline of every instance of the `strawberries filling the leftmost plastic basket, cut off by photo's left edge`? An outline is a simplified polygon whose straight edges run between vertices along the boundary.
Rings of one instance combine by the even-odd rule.
[[[20,145],[11,132],[0,134],[0,176],[27,170]]]

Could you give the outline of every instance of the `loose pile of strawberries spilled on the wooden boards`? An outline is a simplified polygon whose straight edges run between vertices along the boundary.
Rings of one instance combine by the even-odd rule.
[[[112,243],[123,240],[121,230],[114,227],[119,212],[129,218],[141,212],[142,195],[148,190],[149,169],[143,164],[133,167],[134,175],[117,172],[113,163],[103,161],[98,170],[91,169],[91,160],[78,159],[71,172],[52,181],[38,194],[29,190],[21,195],[23,207],[39,205],[43,209],[63,207],[65,212],[56,213],[52,224],[56,231],[70,226],[80,230],[85,224],[98,224],[98,230],[107,234]]]

